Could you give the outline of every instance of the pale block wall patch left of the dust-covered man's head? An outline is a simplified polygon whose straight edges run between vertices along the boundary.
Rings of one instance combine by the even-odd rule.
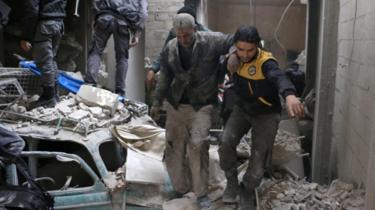
[[[160,53],[168,32],[172,27],[172,18],[184,4],[184,0],[149,0],[148,20],[146,24],[145,55],[152,60]]]

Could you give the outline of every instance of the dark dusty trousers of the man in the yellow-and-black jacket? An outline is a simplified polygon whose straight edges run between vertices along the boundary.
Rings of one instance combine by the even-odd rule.
[[[252,128],[251,156],[242,180],[247,192],[253,192],[260,184],[265,169],[271,164],[272,147],[279,121],[279,113],[249,115],[235,105],[225,124],[219,155],[220,166],[226,174],[237,174],[236,147],[241,138]]]

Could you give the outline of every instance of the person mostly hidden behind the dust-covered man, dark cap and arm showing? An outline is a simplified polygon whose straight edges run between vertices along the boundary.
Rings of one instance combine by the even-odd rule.
[[[196,24],[197,31],[209,31],[208,28],[206,28],[204,25],[198,23],[195,10],[191,6],[183,6],[181,9],[177,11],[177,14],[181,13],[187,13],[194,17],[194,21]],[[167,36],[167,39],[164,42],[163,48],[168,44],[168,42],[176,37],[176,32],[173,28],[169,30],[169,34]],[[146,76],[146,88],[147,90],[151,90],[152,87],[155,86],[155,74],[159,72],[160,70],[160,60],[161,60],[161,52],[159,56],[155,59],[155,61],[152,63],[152,66],[150,69],[147,70],[147,76]]]

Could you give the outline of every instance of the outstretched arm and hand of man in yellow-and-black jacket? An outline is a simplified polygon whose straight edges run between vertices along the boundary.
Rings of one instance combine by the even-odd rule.
[[[278,87],[280,95],[285,99],[289,116],[292,118],[303,117],[304,108],[300,100],[296,97],[296,89],[286,74],[279,68],[277,62],[274,60],[266,61],[262,66],[262,70],[266,78],[275,87]]]

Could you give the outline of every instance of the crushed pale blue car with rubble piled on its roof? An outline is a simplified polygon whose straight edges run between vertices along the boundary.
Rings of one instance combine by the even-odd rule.
[[[21,156],[37,183],[54,197],[55,209],[161,209],[160,199],[143,199],[146,195],[137,186],[144,183],[127,180],[128,151],[110,129],[144,116],[147,105],[125,100],[108,110],[69,94],[55,108],[26,111],[25,93],[36,89],[37,78],[24,69],[0,70],[0,124],[25,140]],[[25,183],[18,173],[8,167],[7,182]],[[146,202],[128,202],[139,199]]]

